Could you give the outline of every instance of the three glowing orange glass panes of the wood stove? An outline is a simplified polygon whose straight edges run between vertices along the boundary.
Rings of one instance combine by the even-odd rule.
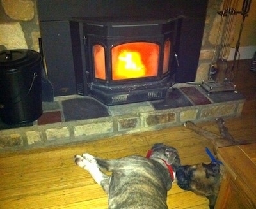
[[[163,73],[167,73],[170,40],[164,45]],[[160,47],[156,43],[125,43],[111,49],[112,80],[157,76]],[[95,78],[106,80],[105,52],[102,45],[93,46]]]

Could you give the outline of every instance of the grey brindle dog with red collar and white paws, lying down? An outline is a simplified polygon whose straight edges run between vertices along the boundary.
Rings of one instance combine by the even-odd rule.
[[[100,159],[90,154],[76,155],[75,162],[86,169],[108,194],[108,208],[168,208],[167,191],[180,166],[173,147],[155,144],[147,157],[131,155],[120,159]],[[102,171],[112,172],[111,176]]]

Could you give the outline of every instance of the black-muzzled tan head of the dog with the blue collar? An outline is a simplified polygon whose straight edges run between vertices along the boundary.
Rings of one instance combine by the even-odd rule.
[[[220,189],[222,167],[218,162],[180,166],[176,171],[177,184],[184,190],[206,196],[210,208],[214,208]]]

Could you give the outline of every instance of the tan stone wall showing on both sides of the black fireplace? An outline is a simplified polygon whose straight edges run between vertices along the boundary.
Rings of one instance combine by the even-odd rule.
[[[195,82],[207,80],[220,24],[223,0],[209,0],[202,50]],[[36,0],[0,1],[0,50],[24,48],[39,51],[40,29]],[[193,47],[193,46],[191,46]]]

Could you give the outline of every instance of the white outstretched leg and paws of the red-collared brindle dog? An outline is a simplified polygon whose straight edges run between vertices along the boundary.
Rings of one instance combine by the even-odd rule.
[[[92,175],[92,178],[95,180],[95,182],[101,185],[104,191],[108,194],[110,177],[100,171],[95,157],[87,153],[83,154],[83,157],[76,155],[75,162],[77,166],[80,166],[81,168],[84,168],[86,171],[88,171],[90,175]]]

